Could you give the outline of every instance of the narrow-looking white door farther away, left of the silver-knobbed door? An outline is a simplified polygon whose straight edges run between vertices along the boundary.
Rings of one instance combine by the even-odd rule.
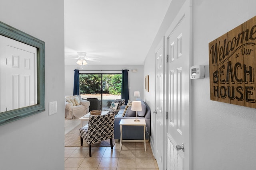
[[[164,38],[155,52],[156,57],[156,153],[160,170],[164,167]]]

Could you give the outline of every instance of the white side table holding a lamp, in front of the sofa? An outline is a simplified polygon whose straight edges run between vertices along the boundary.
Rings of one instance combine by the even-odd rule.
[[[140,122],[134,122],[134,119],[121,119],[120,123],[120,151],[122,150],[123,142],[144,142],[144,149],[146,152],[146,121],[145,119],[140,119]],[[144,127],[144,140],[123,140],[122,139],[122,127],[123,126],[143,126]]]

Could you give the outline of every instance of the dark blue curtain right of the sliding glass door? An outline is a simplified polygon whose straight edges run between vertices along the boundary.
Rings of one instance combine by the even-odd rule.
[[[122,89],[121,99],[125,99],[125,105],[129,100],[129,88],[128,88],[128,70],[122,70]]]

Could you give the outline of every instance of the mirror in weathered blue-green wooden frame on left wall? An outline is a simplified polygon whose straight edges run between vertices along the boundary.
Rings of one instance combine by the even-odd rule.
[[[0,21],[0,125],[45,111],[44,48]]]

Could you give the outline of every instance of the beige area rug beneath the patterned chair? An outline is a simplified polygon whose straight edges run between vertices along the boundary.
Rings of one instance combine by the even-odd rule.
[[[70,132],[68,132],[65,135],[65,147],[80,147],[80,135],[79,135],[79,129],[82,127],[82,125],[78,125],[74,129],[72,129]],[[115,145],[115,140],[113,139],[113,146]],[[83,146],[89,146],[86,141],[83,141]],[[95,143],[92,145],[92,147],[110,147],[110,139],[106,141],[102,141],[100,143]]]

